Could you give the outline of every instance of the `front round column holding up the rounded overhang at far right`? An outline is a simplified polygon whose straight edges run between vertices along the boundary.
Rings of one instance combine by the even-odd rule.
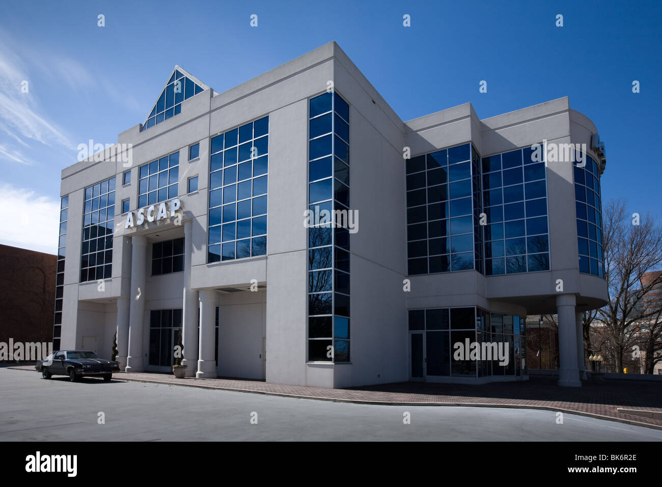
[[[577,313],[575,295],[561,294],[556,297],[559,316],[559,386],[581,387],[577,368]]]

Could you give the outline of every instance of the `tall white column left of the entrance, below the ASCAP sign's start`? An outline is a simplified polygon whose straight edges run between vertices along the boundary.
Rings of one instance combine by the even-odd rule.
[[[128,317],[128,356],[126,372],[142,372],[144,369],[142,334],[145,317],[145,258],[147,239],[142,235],[131,238],[131,303]]]

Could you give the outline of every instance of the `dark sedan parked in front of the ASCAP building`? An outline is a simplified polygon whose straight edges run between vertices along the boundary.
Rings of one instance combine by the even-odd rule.
[[[71,382],[81,377],[103,377],[108,382],[113,378],[113,372],[119,372],[117,362],[111,362],[99,357],[95,352],[83,350],[59,350],[39,360],[34,368],[42,373],[44,379],[51,376],[69,376]]]

